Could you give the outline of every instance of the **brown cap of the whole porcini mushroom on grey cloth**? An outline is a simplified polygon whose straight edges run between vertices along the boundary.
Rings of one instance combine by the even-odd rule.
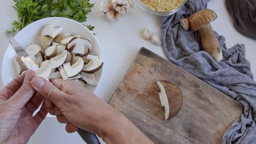
[[[211,9],[202,9],[188,18],[182,18],[181,25],[185,30],[196,31],[203,28],[205,25],[210,24],[218,18],[217,14]]]

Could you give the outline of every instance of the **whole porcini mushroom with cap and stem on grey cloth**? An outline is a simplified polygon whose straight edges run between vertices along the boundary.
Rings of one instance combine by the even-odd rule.
[[[222,49],[220,42],[212,31],[210,22],[218,18],[217,14],[210,9],[203,9],[195,12],[188,18],[182,18],[180,24],[185,30],[199,31],[202,47],[216,62],[222,60]]]

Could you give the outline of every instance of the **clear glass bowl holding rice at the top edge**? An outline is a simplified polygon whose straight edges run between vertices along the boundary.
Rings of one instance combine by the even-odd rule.
[[[142,2],[140,2],[140,0],[136,0],[137,4],[140,6],[140,8],[142,8],[146,12],[149,12],[150,14],[154,14],[156,16],[169,16],[171,14],[174,14],[174,13],[178,12],[178,10],[180,10],[180,8],[186,3],[186,1],[187,0],[184,0],[184,2],[178,8],[176,8],[174,10],[167,11],[167,12],[160,12],[160,11],[150,9],[150,8],[146,7],[144,4],[142,4]]]

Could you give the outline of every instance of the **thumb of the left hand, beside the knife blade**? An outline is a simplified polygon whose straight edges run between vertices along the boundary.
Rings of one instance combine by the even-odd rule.
[[[31,80],[35,76],[36,73],[33,70],[28,70],[22,86],[8,101],[14,103],[18,108],[22,108],[35,92],[31,86]]]

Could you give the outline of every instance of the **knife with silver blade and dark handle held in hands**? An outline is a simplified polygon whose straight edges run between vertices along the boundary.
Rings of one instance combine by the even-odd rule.
[[[32,58],[28,55],[24,48],[22,48],[22,46],[7,31],[6,36],[10,44],[12,45],[12,48],[15,50],[25,66],[30,70],[38,70],[39,68],[36,63],[32,60]],[[87,144],[100,144],[100,141],[97,138],[96,134],[93,134],[86,130],[82,130],[80,128],[78,128],[77,132]]]

